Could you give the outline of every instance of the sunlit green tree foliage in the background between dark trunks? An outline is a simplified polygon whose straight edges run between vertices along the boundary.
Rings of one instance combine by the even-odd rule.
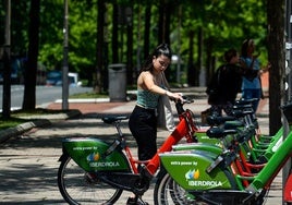
[[[95,74],[96,43],[97,43],[97,2],[98,0],[69,1],[69,70],[78,72],[81,77]],[[241,43],[245,38],[254,38],[258,50],[261,51],[261,61],[266,61],[266,1],[265,0],[169,0],[171,3],[170,37],[174,53],[180,53],[186,63],[188,59],[190,33],[195,33],[194,57],[197,58],[197,31],[203,28],[204,50],[211,49],[211,53],[220,59],[223,51],[234,47],[240,51]],[[41,1],[40,9],[40,40],[39,57],[48,70],[62,68],[63,60],[63,0]],[[111,63],[112,50],[119,49],[119,59],[126,60],[126,27],[119,25],[119,45],[111,45],[112,35],[112,3],[133,7],[133,41],[134,67],[144,60],[143,39],[145,7],[151,5],[149,39],[151,49],[157,45],[158,36],[158,3],[160,1],[142,0],[111,0],[106,1],[105,14],[105,62]],[[3,22],[4,7],[0,7],[1,22]],[[12,3],[12,52],[25,56],[27,53],[27,31],[29,1]],[[180,11],[181,10],[181,11]],[[3,29],[3,27],[0,27]],[[3,33],[3,31],[2,31]],[[211,44],[210,44],[211,43]],[[106,49],[108,48],[108,49]],[[204,52],[205,53],[205,52]],[[204,58],[206,58],[204,56]]]

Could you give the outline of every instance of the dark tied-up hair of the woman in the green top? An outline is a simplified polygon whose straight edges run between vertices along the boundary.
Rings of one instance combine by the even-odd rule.
[[[154,57],[158,58],[160,56],[165,56],[171,60],[172,52],[171,52],[171,49],[170,49],[168,44],[160,44],[159,46],[157,46],[154,49],[154,51],[148,56],[148,58],[144,62],[144,64],[141,69],[141,72],[142,71],[151,71],[154,68],[153,67]]]

